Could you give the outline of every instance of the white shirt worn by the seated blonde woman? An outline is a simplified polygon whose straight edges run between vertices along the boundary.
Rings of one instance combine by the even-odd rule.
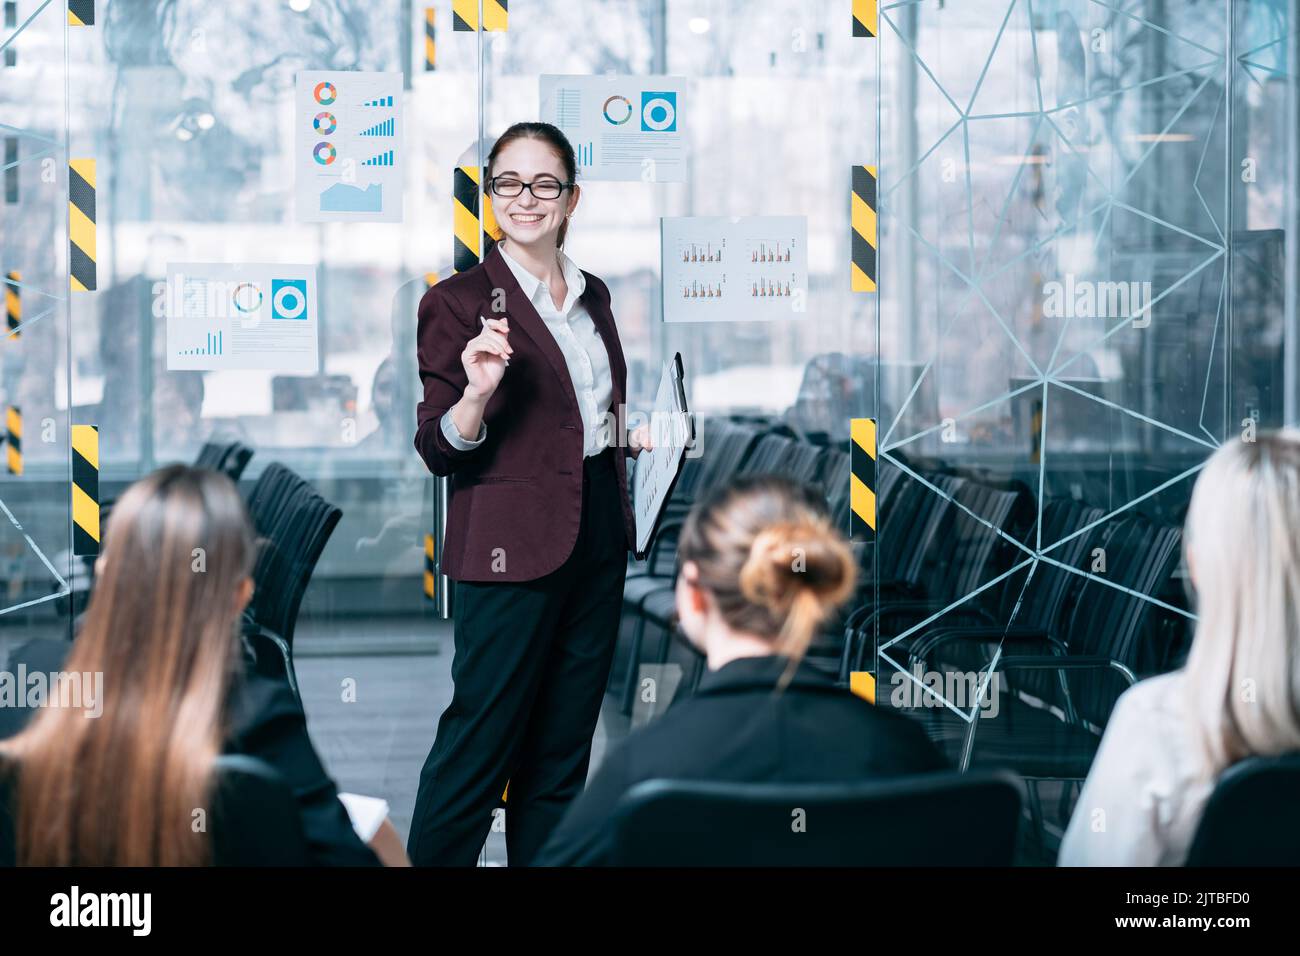
[[[1061,866],[1183,864],[1214,790],[1191,723],[1182,671],[1124,691],[1061,842]]]

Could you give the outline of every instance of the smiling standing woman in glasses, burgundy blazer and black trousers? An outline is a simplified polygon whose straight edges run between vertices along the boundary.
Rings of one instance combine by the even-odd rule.
[[[420,302],[416,449],[451,476],[451,704],[420,773],[408,848],[473,865],[506,783],[506,848],[532,862],[586,782],[634,542],[618,421],[627,367],[610,291],[563,252],[578,186],[555,126],[488,155],[504,238]]]

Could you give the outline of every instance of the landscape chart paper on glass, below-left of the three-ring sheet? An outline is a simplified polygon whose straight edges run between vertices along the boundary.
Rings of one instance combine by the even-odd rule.
[[[169,369],[317,371],[316,267],[168,265]]]

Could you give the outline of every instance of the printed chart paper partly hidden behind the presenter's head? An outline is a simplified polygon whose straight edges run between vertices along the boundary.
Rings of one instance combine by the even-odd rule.
[[[538,114],[573,143],[580,182],[685,182],[685,77],[542,74]]]

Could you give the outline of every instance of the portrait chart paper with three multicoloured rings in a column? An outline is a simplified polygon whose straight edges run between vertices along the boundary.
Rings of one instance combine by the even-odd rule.
[[[402,74],[304,70],[294,101],[299,222],[400,222]]]

